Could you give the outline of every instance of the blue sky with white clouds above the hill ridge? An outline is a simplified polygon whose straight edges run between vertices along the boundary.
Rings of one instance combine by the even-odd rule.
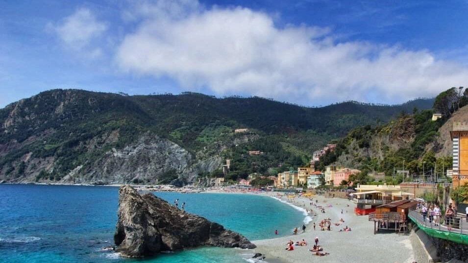
[[[50,89],[399,104],[468,86],[467,0],[0,0],[0,108]]]

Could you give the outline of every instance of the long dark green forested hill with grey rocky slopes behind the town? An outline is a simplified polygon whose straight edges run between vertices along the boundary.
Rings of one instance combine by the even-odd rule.
[[[160,180],[160,175],[172,178],[182,172],[195,178],[219,168],[216,166],[222,158],[235,159],[237,150],[230,148],[233,142],[243,149],[250,148],[249,143],[269,142],[270,151],[276,151],[273,156],[289,152],[304,161],[352,128],[386,123],[415,108],[431,109],[433,102],[417,99],[392,106],[344,102],[309,108],[259,97],[215,98],[196,93],[126,96],[51,90],[0,109],[0,180],[152,182],[151,176]],[[248,128],[249,132],[236,135],[237,128]],[[161,150],[154,143],[166,148]],[[154,162],[148,152],[146,158],[151,160],[116,161],[125,154],[144,156],[139,148],[142,145],[156,147],[151,148],[151,154],[164,151],[166,159],[155,157],[158,165],[141,171],[135,169]],[[171,164],[161,164],[163,161]],[[273,158],[269,162],[284,160]],[[104,175],[98,164],[106,165]],[[119,175],[112,173],[117,170]]]

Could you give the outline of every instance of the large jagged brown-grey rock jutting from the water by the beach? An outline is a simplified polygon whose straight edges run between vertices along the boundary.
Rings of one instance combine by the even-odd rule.
[[[145,257],[201,245],[255,248],[244,236],[218,223],[183,212],[152,193],[119,190],[114,242],[125,257]]]

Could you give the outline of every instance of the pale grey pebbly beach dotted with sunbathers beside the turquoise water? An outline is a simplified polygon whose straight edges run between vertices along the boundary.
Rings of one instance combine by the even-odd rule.
[[[276,196],[276,193],[265,192],[262,194]],[[308,197],[296,197],[288,199],[286,196],[282,200],[308,209],[312,209],[313,221],[306,225],[305,233],[302,233],[302,225],[298,228],[297,235],[281,237],[277,239],[254,240],[257,245],[255,252],[266,256],[265,261],[269,263],[302,263],[302,262],[322,262],[322,263],[412,263],[414,253],[409,235],[398,235],[394,231],[373,234],[374,223],[369,222],[367,215],[355,215],[354,204],[347,199],[325,198],[320,195]],[[311,202],[316,203],[325,209],[325,213]],[[348,205],[348,206],[347,206]],[[343,214],[342,214],[343,210]],[[331,230],[321,231],[319,223],[322,219],[330,218]],[[344,222],[340,222],[343,218]],[[313,223],[316,224],[316,230]],[[340,223],[336,226],[335,223]],[[340,232],[340,229],[348,226],[351,231]],[[309,251],[314,245],[314,239],[319,238],[319,245],[323,247],[322,253],[329,253],[325,256],[316,256],[315,252]],[[293,251],[286,250],[289,240],[300,241],[304,239],[306,246],[294,246]]]

